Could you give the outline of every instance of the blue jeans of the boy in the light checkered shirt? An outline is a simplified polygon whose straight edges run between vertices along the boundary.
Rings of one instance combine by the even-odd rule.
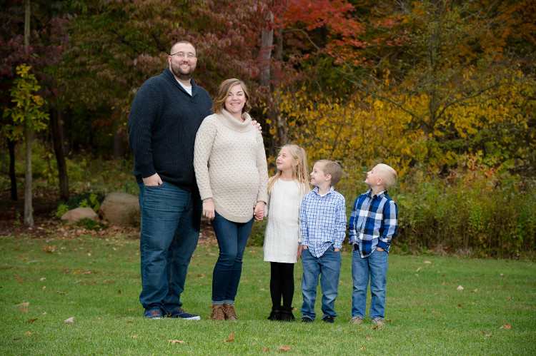
[[[322,312],[323,317],[336,317],[334,310],[335,298],[339,294],[339,275],[341,272],[341,253],[335,252],[333,246],[319,258],[311,255],[308,249],[302,253],[303,278],[302,314],[314,320],[314,303],[317,300],[317,285],[320,277],[320,288],[322,289]]]

